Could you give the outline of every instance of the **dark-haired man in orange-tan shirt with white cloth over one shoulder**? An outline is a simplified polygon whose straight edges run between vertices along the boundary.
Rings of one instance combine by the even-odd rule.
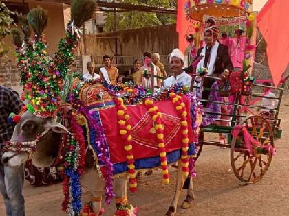
[[[111,65],[110,56],[103,56],[103,62],[105,63],[105,67],[99,69],[100,78],[109,84],[115,85],[116,78],[118,77],[118,69]]]

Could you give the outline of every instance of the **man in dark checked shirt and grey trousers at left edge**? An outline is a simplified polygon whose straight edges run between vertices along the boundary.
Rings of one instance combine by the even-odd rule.
[[[0,150],[9,141],[14,125],[8,123],[10,112],[18,114],[23,106],[19,94],[11,88],[0,86]],[[0,152],[0,158],[2,157]],[[0,160],[0,191],[3,195],[7,216],[24,216],[24,198],[22,187],[24,167],[6,167]]]

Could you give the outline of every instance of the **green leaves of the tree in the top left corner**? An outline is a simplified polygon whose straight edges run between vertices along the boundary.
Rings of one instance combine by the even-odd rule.
[[[7,34],[10,34],[10,25],[14,23],[14,20],[10,15],[14,14],[11,12],[4,3],[0,2],[0,57],[5,55],[8,50],[5,49],[3,38]]]

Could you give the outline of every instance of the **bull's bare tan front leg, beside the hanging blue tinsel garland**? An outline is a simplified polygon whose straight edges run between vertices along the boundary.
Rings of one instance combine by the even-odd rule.
[[[95,215],[99,215],[101,211],[101,198],[103,193],[104,182],[100,180],[95,169],[89,169],[81,179],[81,185],[92,193],[91,199],[92,210]]]

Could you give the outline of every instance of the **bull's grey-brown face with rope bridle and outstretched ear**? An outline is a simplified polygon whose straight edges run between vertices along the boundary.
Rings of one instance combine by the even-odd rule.
[[[36,167],[50,167],[56,160],[61,142],[60,133],[62,132],[68,131],[60,123],[53,121],[51,118],[36,117],[27,111],[15,125],[10,142],[22,144],[27,142],[30,147],[36,145],[36,149],[30,152],[33,165]],[[39,134],[43,134],[43,136],[38,140]],[[28,157],[28,151],[21,150],[19,153],[8,149],[2,156],[2,163],[9,167],[19,167],[28,160]]]

